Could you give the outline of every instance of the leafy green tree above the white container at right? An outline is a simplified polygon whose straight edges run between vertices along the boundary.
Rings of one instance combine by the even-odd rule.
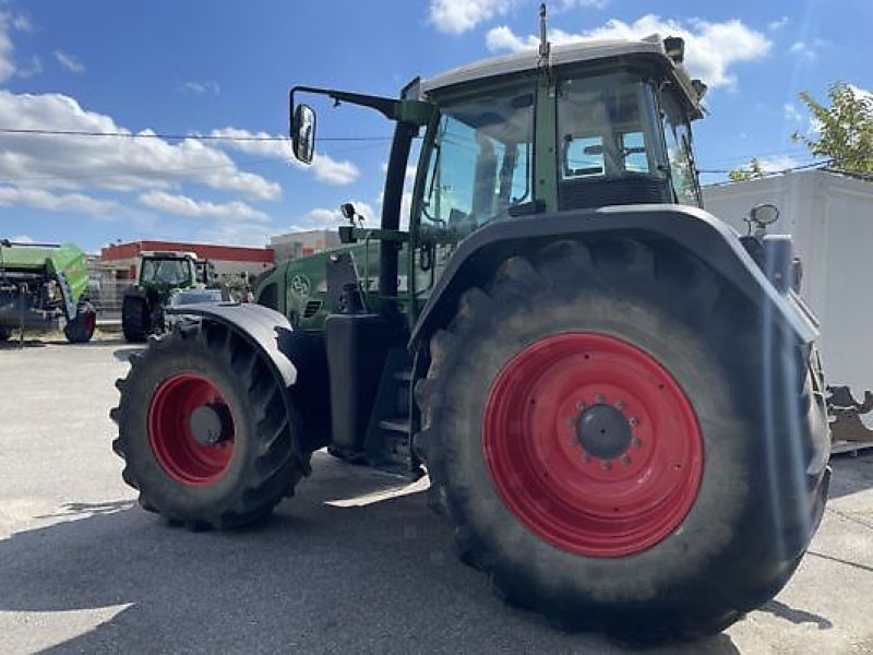
[[[830,159],[836,169],[873,174],[873,95],[836,82],[828,88],[827,97],[829,107],[818,104],[805,91],[800,94],[817,131],[794,132],[792,139],[805,143],[813,155]]]

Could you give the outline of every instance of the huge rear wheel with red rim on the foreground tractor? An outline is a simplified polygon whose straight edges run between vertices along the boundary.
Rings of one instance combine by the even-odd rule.
[[[646,641],[775,595],[815,526],[773,512],[815,519],[767,478],[758,324],[698,262],[627,240],[558,242],[468,290],[416,394],[462,560],[510,603]]]

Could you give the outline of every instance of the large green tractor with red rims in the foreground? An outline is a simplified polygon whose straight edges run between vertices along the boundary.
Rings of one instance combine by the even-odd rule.
[[[292,88],[303,163],[303,93],[393,121],[381,225],[262,276],[260,306],[179,308],[133,359],[111,417],[141,504],[248,524],[327,446],[427,471],[462,560],[561,623],[693,638],[772,598],[827,495],[816,322],[787,237],[701,207],[682,58],[543,38],[398,99]]]

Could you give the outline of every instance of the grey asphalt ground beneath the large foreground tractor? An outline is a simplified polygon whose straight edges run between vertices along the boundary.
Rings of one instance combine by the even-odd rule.
[[[454,558],[421,485],[321,453],[263,526],[169,527],[136,505],[110,450],[133,350],[0,348],[0,653],[629,652],[503,605]],[[873,653],[873,454],[836,460],[832,489],[775,600],[647,652]]]

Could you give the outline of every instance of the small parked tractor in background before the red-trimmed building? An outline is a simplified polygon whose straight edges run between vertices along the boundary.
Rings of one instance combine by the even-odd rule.
[[[124,293],[121,306],[121,331],[128,342],[144,342],[171,327],[168,307],[226,299],[220,289],[210,288],[210,262],[193,252],[143,252],[136,269],[136,285]]]

